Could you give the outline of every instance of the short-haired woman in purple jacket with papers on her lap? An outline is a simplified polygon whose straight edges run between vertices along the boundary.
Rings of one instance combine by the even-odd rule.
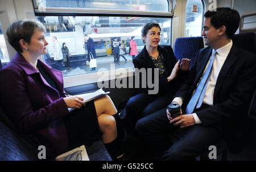
[[[115,158],[117,109],[112,99],[105,96],[84,103],[80,97],[68,97],[62,73],[39,59],[47,53],[45,32],[35,20],[20,20],[7,29],[17,53],[0,70],[1,105],[19,131],[46,146],[48,158],[100,137]]]

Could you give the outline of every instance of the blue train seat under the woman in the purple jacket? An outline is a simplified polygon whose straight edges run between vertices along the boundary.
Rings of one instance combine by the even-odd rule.
[[[88,157],[92,161],[112,160],[101,140],[86,146]],[[13,123],[0,107],[0,161],[36,161],[39,151],[30,139],[15,131]]]

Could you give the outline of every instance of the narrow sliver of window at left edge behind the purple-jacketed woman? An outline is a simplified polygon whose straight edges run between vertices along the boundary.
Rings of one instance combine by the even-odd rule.
[[[2,62],[2,65],[6,65],[8,62],[10,62],[9,54],[7,52],[7,47],[5,43],[5,37],[3,37],[1,21],[0,21],[0,60]]]

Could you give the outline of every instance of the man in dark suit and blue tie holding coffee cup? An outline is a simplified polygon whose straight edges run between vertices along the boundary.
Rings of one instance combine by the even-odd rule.
[[[221,139],[227,141],[231,152],[241,149],[236,143],[255,90],[256,56],[230,39],[239,22],[238,12],[229,8],[205,13],[202,36],[209,47],[197,53],[172,101],[181,105],[183,115],[172,119],[163,109],[135,126],[154,158],[195,160]],[[167,139],[170,133],[177,139]]]

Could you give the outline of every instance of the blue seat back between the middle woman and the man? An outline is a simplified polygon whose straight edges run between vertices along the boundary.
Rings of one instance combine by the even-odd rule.
[[[196,53],[201,48],[204,48],[204,41],[201,36],[178,37],[175,41],[174,55],[177,60],[182,60],[182,58],[191,59],[192,66],[195,62]]]

